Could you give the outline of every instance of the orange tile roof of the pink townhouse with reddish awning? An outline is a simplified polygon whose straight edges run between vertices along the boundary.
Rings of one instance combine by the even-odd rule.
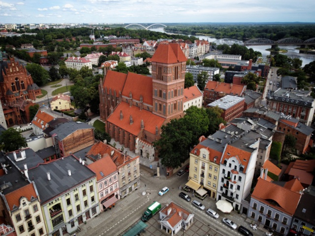
[[[106,155],[99,160],[89,165],[89,168],[96,173],[96,180],[101,180],[117,172],[117,166],[112,161],[109,155]],[[100,173],[103,173],[103,176]]]

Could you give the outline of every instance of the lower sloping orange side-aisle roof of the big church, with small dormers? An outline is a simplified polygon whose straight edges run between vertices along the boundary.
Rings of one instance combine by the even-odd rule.
[[[120,119],[120,111],[123,112],[124,118]],[[130,115],[132,116],[133,124],[130,125]],[[126,102],[121,102],[114,110],[113,114],[107,119],[108,122],[115,124],[118,127],[126,130],[127,132],[138,135],[141,130],[141,120],[144,122],[144,129],[152,134],[156,134],[156,126],[158,129],[162,126],[164,118],[152,114],[145,109],[139,110],[139,107],[132,106]]]

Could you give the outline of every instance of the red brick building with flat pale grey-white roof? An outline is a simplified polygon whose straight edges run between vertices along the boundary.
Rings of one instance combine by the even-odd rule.
[[[212,102],[207,105],[207,107],[219,107],[222,109],[221,118],[226,122],[231,121],[234,118],[239,118],[242,116],[244,111],[245,98],[226,95],[219,100]]]

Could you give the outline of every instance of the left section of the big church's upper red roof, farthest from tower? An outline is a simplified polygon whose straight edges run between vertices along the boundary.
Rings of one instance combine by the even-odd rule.
[[[126,83],[127,75],[121,72],[109,70],[106,73],[103,88],[107,88],[107,93],[109,93],[109,89],[112,90],[112,94],[114,95],[114,91],[116,90],[117,97],[119,96],[119,92],[122,92]],[[128,94],[129,96],[129,94]]]

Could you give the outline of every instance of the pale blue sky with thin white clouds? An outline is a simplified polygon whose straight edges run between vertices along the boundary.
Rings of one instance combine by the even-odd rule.
[[[0,23],[315,22],[315,0],[0,0]]]

